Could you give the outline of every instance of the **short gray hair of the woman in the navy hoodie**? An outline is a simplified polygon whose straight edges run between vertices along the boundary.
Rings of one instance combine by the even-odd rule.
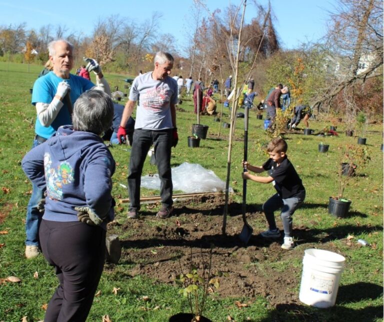
[[[112,126],[112,119],[112,99],[101,90],[87,90],[74,103],[72,123],[75,130],[99,135]]]

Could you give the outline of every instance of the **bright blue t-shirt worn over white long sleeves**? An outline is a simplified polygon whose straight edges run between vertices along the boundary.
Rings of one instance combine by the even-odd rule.
[[[37,78],[34,82],[32,90],[32,104],[35,105],[37,102],[49,104],[56,94],[58,83],[62,80],[64,79],[56,76],[52,71]],[[68,81],[70,85],[70,99],[72,101],[72,105],[78,96],[94,86],[94,84],[88,79],[72,74],[69,74],[69,79],[65,80]],[[64,105],[61,107],[56,118],[49,126],[42,125],[38,117],[36,117],[34,130],[37,135],[49,138],[56,132],[59,126],[72,124],[65,99],[63,100],[63,103]]]

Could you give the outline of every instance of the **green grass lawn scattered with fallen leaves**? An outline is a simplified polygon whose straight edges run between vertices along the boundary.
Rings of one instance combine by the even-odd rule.
[[[28,321],[42,320],[43,307],[57,286],[53,269],[42,256],[33,260],[24,258],[24,219],[31,185],[21,170],[20,161],[32,144],[36,116],[35,108],[30,104],[29,88],[32,88],[41,69],[41,66],[30,65],[28,72],[27,65],[0,62],[0,321],[18,321],[23,316],[27,316]],[[127,76],[111,74],[106,75],[106,79],[109,79],[112,90],[117,85],[119,90],[126,92],[123,79]],[[220,139],[201,140],[199,148],[188,148],[187,136],[191,133],[191,124],[196,122],[196,116],[190,99],[184,99],[179,107],[185,111],[177,112],[179,143],[172,150],[172,167],[183,162],[199,163],[225,180],[229,128],[220,128],[220,123],[213,121],[211,116],[201,116],[200,123],[209,126],[208,135],[216,135],[217,138],[220,131]],[[220,108],[219,105],[218,111]],[[248,160],[252,164],[261,165],[267,158],[262,145],[269,139],[262,128],[263,121],[256,119],[255,111],[250,110],[249,115]],[[226,108],[222,120],[229,122]],[[316,131],[329,125],[321,117],[310,121],[310,127]],[[308,307],[298,317],[291,309],[286,312],[284,303],[270,307],[267,299],[262,297],[243,308],[235,307],[233,298],[212,298],[208,301],[204,315],[214,321],[224,321],[228,315],[236,321],[293,321],[303,318],[307,321],[382,320],[383,153],[380,144],[383,128],[382,123],[368,126],[366,149],[371,160],[365,166],[358,164],[357,175],[351,179],[344,192],[344,196],[352,200],[350,215],[347,218],[336,218],[327,213],[326,207],[328,197],[337,194],[340,148],[357,142],[357,137],[345,136],[344,129],[345,124],[340,124],[338,136],[286,135],[287,154],[307,192],[305,203],[294,215],[293,225],[307,226],[313,236],[319,238],[343,236],[332,239],[333,244],[346,257],[346,267],[340,281],[344,287],[341,300],[337,300],[336,305],[328,309]],[[236,119],[230,185],[234,189],[233,199],[237,202],[241,202],[242,197],[243,131],[243,120]],[[317,151],[319,142],[330,145],[327,153]],[[113,176],[113,196],[116,199],[127,197],[126,189],[119,183],[126,184],[129,151],[127,146],[122,145],[113,147],[111,152],[117,163]],[[147,173],[156,173],[156,167],[149,162],[145,162],[143,169],[143,175]],[[143,189],[141,194],[157,193]],[[248,181],[248,203],[261,204],[272,193],[270,186]],[[121,222],[125,220],[126,205],[124,207],[116,216]],[[255,231],[264,228],[257,226],[256,222],[252,223],[252,219],[250,223]],[[355,243],[358,238],[363,238],[372,247],[350,247],[345,242],[348,235],[354,237],[350,242]],[[301,258],[293,262],[277,260],[271,265],[276,269],[284,267],[289,270],[290,265],[301,265]],[[129,268],[129,263],[120,263],[113,270],[106,269],[103,272],[98,287],[101,293],[94,299],[89,321],[101,320],[104,314],[108,314],[113,322],[167,321],[176,312],[188,311],[185,300],[178,294],[178,288],[153,283],[143,275],[132,278],[127,273]],[[21,282],[2,282],[3,278],[10,275],[19,277]],[[112,292],[113,287],[120,287],[116,295]],[[151,300],[143,301],[144,295]],[[241,294],[238,294],[238,298],[241,298]]]

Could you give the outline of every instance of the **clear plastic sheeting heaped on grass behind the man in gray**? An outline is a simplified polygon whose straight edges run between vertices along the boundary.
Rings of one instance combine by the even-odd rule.
[[[212,170],[207,170],[200,164],[184,162],[171,170],[173,190],[181,190],[185,193],[225,191],[225,182]],[[158,174],[142,176],[141,187],[159,190]],[[233,192],[231,187],[229,192]]]

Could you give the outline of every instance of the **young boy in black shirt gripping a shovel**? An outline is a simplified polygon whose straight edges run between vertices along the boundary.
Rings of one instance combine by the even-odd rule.
[[[262,166],[254,166],[247,161],[242,161],[242,166],[247,170],[242,173],[243,179],[261,183],[272,182],[277,191],[262,205],[269,229],[261,232],[261,236],[265,238],[280,237],[280,231],[276,227],[273,214],[275,210],[280,208],[280,217],[284,227],[284,243],[281,245],[283,249],[290,249],[294,246],[292,215],[305,198],[305,189],[301,179],[286,156],[287,148],[288,146],[282,138],[274,138],[267,146],[269,159]],[[249,170],[255,173],[270,170],[270,174],[266,177],[257,176],[250,174]]]

